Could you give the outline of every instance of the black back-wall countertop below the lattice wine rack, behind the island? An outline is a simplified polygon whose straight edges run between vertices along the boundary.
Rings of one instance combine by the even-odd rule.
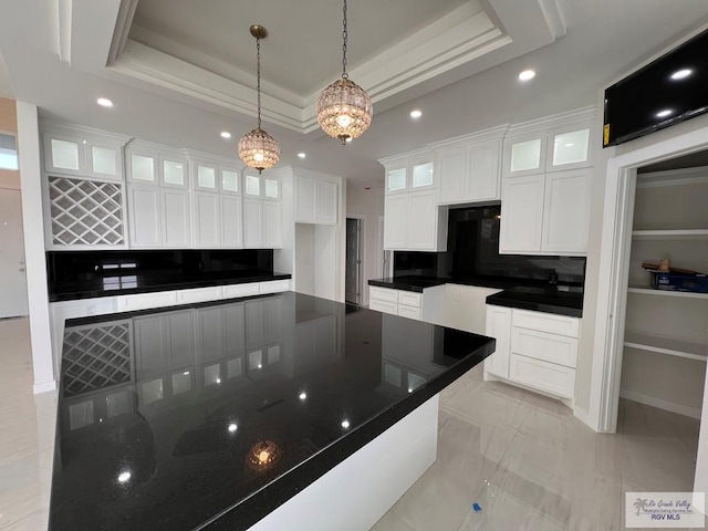
[[[195,277],[184,277],[174,272],[129,273],[121,271],[119,274],[104,273],[72,282],[58,282],[51,287],[49,300],[50,302],[74,301],[77,299],[94,299],[133,293],[287,280],[291,277],[292,275],[287,273],[258,270],[242,271],[239,272],[238,277],[235,277],[233,272],[201,273]]]

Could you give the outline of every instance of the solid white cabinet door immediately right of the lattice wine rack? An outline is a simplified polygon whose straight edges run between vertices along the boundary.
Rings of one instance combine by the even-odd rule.
[[[128,216],[132,248],[163,246],[159,189],[128,185]]]

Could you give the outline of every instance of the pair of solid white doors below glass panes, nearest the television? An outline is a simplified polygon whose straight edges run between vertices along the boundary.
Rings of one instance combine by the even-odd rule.
[[[590,169],[506,177],[499,252],[585,254],[591,178]]]

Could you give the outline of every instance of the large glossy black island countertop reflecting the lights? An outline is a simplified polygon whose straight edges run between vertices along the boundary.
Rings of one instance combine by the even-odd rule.
[[[293,292],[71,320],[50,530],[246,530],[493,350]]]

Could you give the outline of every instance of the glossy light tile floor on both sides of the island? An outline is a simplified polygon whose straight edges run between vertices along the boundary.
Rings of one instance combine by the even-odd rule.
[[[0,320],[0,530],[46,529],[55,416],[55,393],[32,395],[28,321]],[[693,487],[698,421],[631,402],[598,435],[475,369],[439,425],[438,460],[373,531],[620,530],[625,491]]]

